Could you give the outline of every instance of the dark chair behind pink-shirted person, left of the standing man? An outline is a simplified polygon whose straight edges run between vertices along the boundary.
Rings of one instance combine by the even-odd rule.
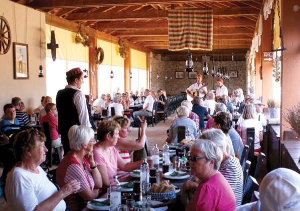
[[[50,124],[49,122],[43,122],[43,129],[44,129],[44,134],[46,136],[46,142],[45,142],[45,146],[48,149],[48,153],[46,155],[46,159],[49,160],[49,167],[52,167],[53,164],[53,154],[52,154],[52,139],[51,139],[51,133],[50,133]],[[60,146],[54,148],[54,150],[56,150],[57,154],[58,154],[58,158],[59,161],[61,161],[62,155],[61,155],[61,149]]]

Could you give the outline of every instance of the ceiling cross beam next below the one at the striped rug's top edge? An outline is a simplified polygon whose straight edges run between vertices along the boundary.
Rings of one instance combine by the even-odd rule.
[[[220,19],[214,21],[214,27],[237,27],[237,26],[255,26],[256,22],[250,19]],[[98,22],[92,26],[99,30],[130,30],[130,29],[152,29],[168,28],[167,20],[158,21],[109,21]]]

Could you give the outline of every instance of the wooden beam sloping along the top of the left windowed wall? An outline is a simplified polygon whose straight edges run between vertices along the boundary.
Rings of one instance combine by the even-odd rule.
[[[55,15],[51,16],[51,14],[49,14],[49,13],[46,13],[45,16],[46,16],[46,23],[47,24],[52,24],[53,26],[64,28],[66,30],[73,31],[73,32],[77,32],[77,30],[78,30],[78,23],[76,23],[76,22],[69,21],[69,20],[66,20],[62,17],[58,17],[58,16],[55,16]],[[113,43],[118,44],[119,38],[116,37],[116,36],[112,36],[112,35],[106,34],[104,32],[97,31],[97,30],[95,30],[93,28],[90,28],[90,27],[85,27],[84,31],[89,36],[95,36],[98,39],[108,41],[108,42],[112,41]],[[151,49],[149,49],[147,47],[137,45],[137,44],[135,44],[133,42],[130,42],[130,41],[127,41],[127,40],[125,40],[125,44],[127,46],[129,46],[130,48],[132,48],[132,49],[136,49],[136,50],[139,50],[139,51],[142,51],[142,52],[151,51]]]

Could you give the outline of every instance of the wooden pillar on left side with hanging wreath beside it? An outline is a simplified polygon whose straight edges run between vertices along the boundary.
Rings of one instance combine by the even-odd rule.
[[[89,37],[93,47],[89,47],[89,80],[90,80],[90,93],[92,92],[93,89],[93,98],[98,98],[98,71],[95,73],[94,77],[93,77],[93,73],[91,71],[91,64],[93,64],[94,67],[96,67],[96,63],[95,63],[95,51],[97,49],[98,43],[97,43],[97,38],[95,38],[94,36],[90,36]],[[94,78],[94,83],[93,83],[93,78]],[[93,84],[93,88],[92,88],[92,84]]]

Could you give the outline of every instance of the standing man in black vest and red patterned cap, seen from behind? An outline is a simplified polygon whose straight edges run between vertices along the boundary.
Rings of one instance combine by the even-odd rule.
[[[58,132],[65,154],[70,151],[68,131],[74,124],[92,126],[89,120],[86,98],[82,91],[83,72],[79,67],[66,72],[68,85],[57,92]]]

